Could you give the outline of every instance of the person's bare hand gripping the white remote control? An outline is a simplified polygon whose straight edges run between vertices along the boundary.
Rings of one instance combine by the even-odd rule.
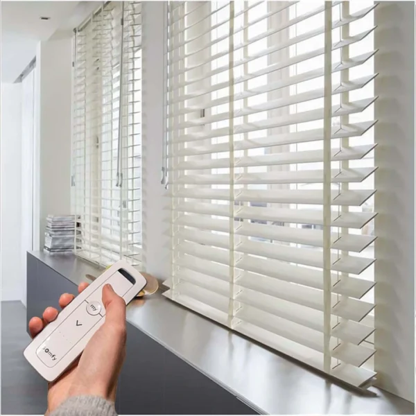
[[[87,283],[78,286],[78,293],[87,288]],[[64,293],[59,299],[62,309],[75,296]],[[51,413],[66,399],[73,396],[93,395],[115,401],[117,379],[125,358],[125,302],[110,284],[103,287],[105,322],[89,340],[83,353],[58,379],[49,383],[48,409]],[[37,336],[49,322],[58,317],[58,310],[48,307],[42,319],[34,317],[29,322],[32,337]]]

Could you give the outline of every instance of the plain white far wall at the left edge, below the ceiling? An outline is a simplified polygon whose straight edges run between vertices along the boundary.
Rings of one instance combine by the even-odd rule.
[[[21,300],[21,84],[1,83],[1,300]]]

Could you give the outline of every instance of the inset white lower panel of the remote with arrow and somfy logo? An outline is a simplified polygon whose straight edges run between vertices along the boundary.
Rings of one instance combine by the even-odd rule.
[[[83,302],[60,326],[44,340],[36,354],[48,367],[54,367],[101,319],[101,315],[89,315]]]

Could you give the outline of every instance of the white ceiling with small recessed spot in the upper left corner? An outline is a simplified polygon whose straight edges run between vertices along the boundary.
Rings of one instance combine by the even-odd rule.
[[[13,83],[35,58],[36,46],[70,35],[97,8],[94,1],[1,1],[1,82]],[[40,17],[50,17],[41,20]]]

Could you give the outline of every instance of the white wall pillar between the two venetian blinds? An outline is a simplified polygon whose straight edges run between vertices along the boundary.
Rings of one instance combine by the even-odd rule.
[[[142,26],[142,198],[144,268],[159,279],[169,273],[169,213],[162,185],[162,144],[166,134],[166,2],[143,3]]]

